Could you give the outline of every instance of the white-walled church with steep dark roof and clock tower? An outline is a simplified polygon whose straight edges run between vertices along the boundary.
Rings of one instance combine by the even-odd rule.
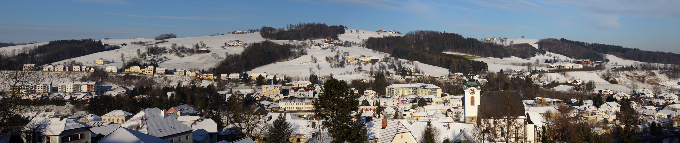
[[[472,64],[471,64],[472,66]],[[483,133],[481,140],[489,142],[537,142],[538,133],[545,125],[541,115],[525,112],[522,95],[519,91],[484,91],[475,81],[475,73],[470,68],[468,82],[464,87],[464,122],[472,123]]]

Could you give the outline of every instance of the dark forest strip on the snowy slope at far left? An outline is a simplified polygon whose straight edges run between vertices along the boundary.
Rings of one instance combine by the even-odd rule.
[[[92,39],[50,41],[46,45],[26,48],[18,54],[0,52],[0,62],[5,63],[0,69],[20,70],[23,64],[50,64],[107,50],[112,49],[106,49],[101,41]]]

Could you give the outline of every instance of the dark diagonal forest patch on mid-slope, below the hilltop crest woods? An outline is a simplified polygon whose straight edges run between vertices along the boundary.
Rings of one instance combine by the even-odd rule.
[[[228,54],[214,70],[215,74],[242,73],[254,68],[301,56],[305,54],[303,49],[293,52],[294,45],[279,45],[272,41],[251,43],[241,54]]]

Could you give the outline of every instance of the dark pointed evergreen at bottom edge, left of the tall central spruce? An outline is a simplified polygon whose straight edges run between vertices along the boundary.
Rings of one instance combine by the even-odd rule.
[[[269,126],[269,134],[267,134],[267,142],[290,142],[288,138],[292,137],[292,129],[290,123],[286,121],[284,114],[279,114],[274,123]]]

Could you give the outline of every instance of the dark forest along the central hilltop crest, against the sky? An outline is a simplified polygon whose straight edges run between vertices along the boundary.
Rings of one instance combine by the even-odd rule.
[[[287,28],[262,26],[260,35],[262,38],[273,40],[338,40],[338,35],[345,34],[346,28],[347,27],[343,25],[328,26],[322,23],[289,24],[287,25]]]

